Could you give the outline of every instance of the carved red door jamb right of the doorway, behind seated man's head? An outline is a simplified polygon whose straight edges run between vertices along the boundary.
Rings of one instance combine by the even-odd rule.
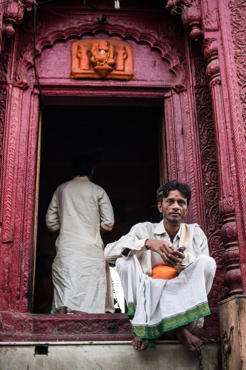
[[[200,148],[191,101],[188,89],[165,98],[168,178],[189,184],[192,199],[186,222],[197,222],[206,231]]]

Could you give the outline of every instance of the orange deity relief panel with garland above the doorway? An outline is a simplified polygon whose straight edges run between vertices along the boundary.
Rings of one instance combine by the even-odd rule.
[[[76,41],[72,44],[71,77],[131,80],[132,49],[119,40]]]

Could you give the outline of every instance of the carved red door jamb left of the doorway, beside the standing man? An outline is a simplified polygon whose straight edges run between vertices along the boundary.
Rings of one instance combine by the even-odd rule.
[[[1,310],[28,312],[31,303],[38,105],[37,93],[9,85],[0,193]]]

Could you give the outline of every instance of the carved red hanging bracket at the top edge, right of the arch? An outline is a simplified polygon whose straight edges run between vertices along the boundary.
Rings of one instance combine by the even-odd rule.
[[[166,9],[171,9],[171,14],[181,14],[182,23],[190,30],[190,36],[198,41],[202,36],[200,0],[169,0]]]

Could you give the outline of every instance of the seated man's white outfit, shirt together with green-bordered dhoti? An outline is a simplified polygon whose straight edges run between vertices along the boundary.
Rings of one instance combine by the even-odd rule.
[[[189,325],[193,331],[203,325],[203,317],[210,313],[207,294],[211,289],[216,263],[209,257],[204,232],[194,223],[181,223],[174,238],[174,248],[185,246],[185,259],[178,265],[175,279],[151,279],[151,270],[163,263],[156,252],[147,250],[146,239],[171,243],[164,223],[143,222],[131,228],[117,242],[105,248],[105,258],[115,262],[124,295],[128,303],[128,317],[133,319],[133,333],[147,346],[155,346],[155,338],[165,331]],[[122,255],[129,248],[128,255]]]

